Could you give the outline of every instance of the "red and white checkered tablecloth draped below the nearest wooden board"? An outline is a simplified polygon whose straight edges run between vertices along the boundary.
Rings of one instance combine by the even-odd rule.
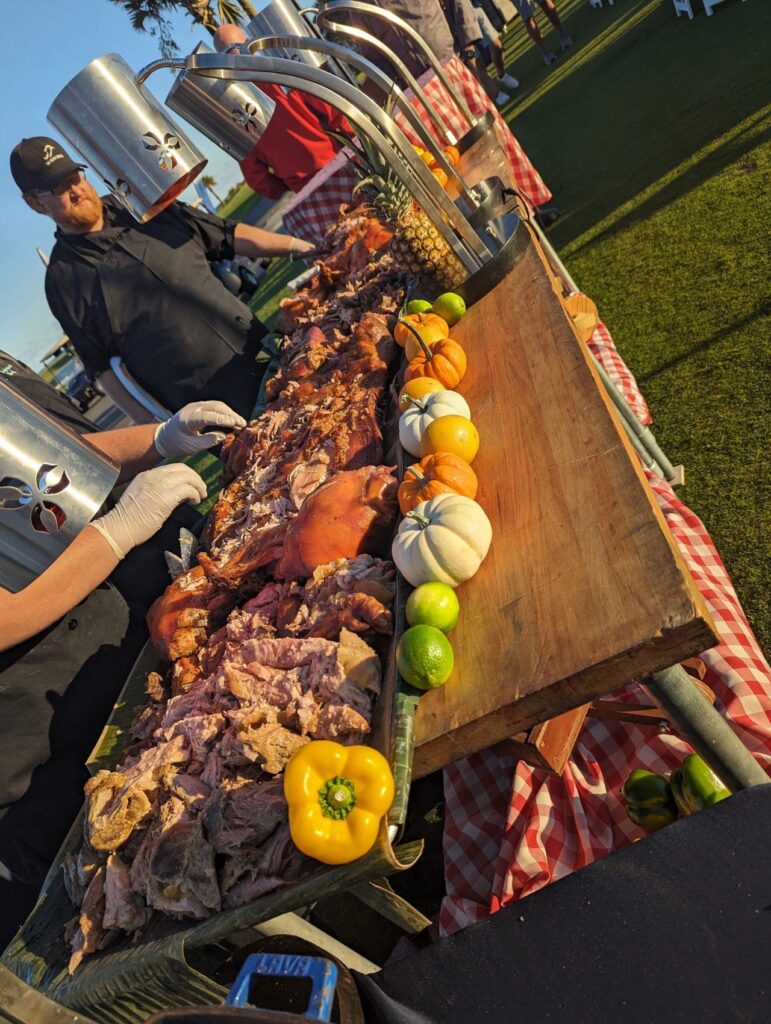
[[[771,668],[703,524],[668,483],[645,472],[722,637],[700,655],[704,682],[771,773]],[[614,696],[641,694],[630,686]],[[627,775],[634,768],[672,771],[689,752],[669,731],[588,719],[562,776],[491,751],[445,768],[442,932],[479,921],[640,838],[619,796]]]

